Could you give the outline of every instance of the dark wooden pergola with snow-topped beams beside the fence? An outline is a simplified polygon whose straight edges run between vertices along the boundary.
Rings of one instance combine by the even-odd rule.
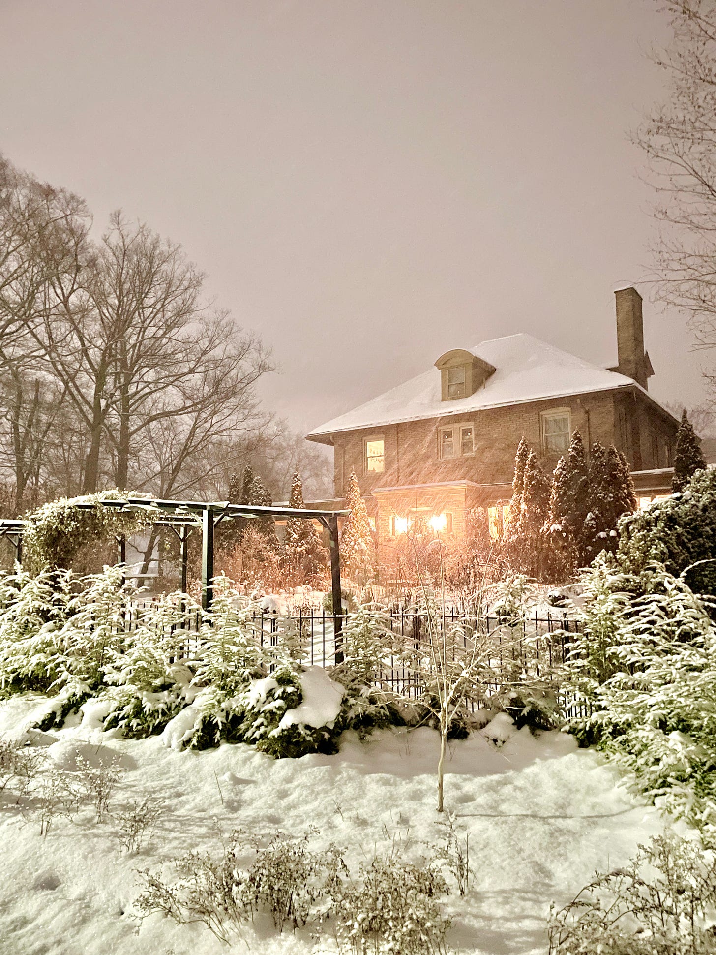
[[[330,548],[330,584],[333,598],[333,632],[336,641],[336,663],[340,663],[339,634],[343,626],[341,602],[341,561],[338,552],[338,518],[350,511],[316,511],[308,508],[274,507],[254,504],[231,504],[229,501],[165,500],[159,498],[102,499],[102,507],[137,511],[146,515],[148,524],[170,527],[179,538],[181,560],[181,590],[186,591],[189,535],[201,530],[201,606],[211,609],[214,600],[214,531],[222,520],[258,520],[260,518],[297,518],[318,520],[328,532]],[[81,502],[77,507],[91,510],[91,501]],[[0,537],[7,537],[15,548],[17,562],[22,563],[23,520],[0,520]],[[117,540],[119,562],[125,560],[125,542]]]

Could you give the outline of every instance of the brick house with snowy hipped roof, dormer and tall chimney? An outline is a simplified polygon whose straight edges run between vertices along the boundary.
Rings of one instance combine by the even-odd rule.
[[[579,429],[614,444],[642,501],[668,494],[677,419],[648,393],[642,296],[615,292],[619,364],[603,369],[528,334],[446,351],[434,367],[315,428],[334,448],[334,494],[355,470],[379,540],[418,515],[459,535],[472,507],[499,525],[522,435],[552,470]]]

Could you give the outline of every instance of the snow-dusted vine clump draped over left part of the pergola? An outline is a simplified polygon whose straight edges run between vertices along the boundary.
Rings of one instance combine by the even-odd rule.
[[[102,500],[123,499],[117,490],[80,498],[51,500],[25,515],[24,564],[33,573],[69,569],[75,555],[91,541],[129,537],[149,521],[146,512],[103,507]],[[78,505],[84,505],[80,507]],[[94,506],[88,507],[88,504]],[[151,520],[151,519],[150,519]]]

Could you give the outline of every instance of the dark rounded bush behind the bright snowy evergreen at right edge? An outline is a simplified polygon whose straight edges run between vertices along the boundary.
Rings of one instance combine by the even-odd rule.
[[[716,471],[697,471],[681,494],[622,518],[617,558],[633,574],[663,563],[685,572],[696,593],[716,596]]]

